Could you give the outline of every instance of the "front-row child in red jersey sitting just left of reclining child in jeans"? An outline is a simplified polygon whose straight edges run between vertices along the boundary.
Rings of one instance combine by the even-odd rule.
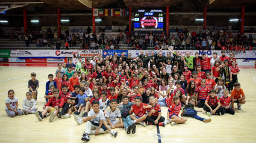
[[[168,108],[167,111],[167,121],[170,123],[171,126],[174,124],[183,124],[187,121],[186,118],[179,117],[180,111],[181,111],[181,102],[180,98],[178,96],[173,97],[173,103]]]

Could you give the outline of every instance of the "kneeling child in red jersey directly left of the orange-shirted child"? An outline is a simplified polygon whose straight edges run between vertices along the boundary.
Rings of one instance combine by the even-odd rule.
[[[222,115],[225,113],[229,113],[234,115],[235,111],[231,108],[231,97],[228,96],[228,89],[224,90],[224,96],[220,98],[220,103],[223,108],[223,111],[221,112]]]

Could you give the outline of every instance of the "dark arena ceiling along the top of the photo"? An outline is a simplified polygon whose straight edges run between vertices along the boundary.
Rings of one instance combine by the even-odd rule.
[[[181,10],[183,4],[186,2],[194,4],[193,10],[188,11],[201,11],[203,7],[207,7],[207,10],[216,11],[237,11],[241,9],[242,5],[245,5],[246,11],[256,11],[255,0],[1,0],[2,2],[43,2],[43,4],[27,4],[24,7],[14,8],[11,11],[22,11],[24,8],[28,10],[28,13],[43,10],[43,13],[52,13],[52,10],[59,7],[61,11],[67,11],[69,13],[80,13],[92,11],[92,7],[95,8],[165,8],[169,6],[172,10],[178,6],[178,10]],[[17,5],[17,4],[16,4]],[[186,11],[187,8],[184,8]],[[13,13],[14,13],[13,12]],[[54,11],[54,13],[56,10]],[[10,12],[9,12],[10,13]]]

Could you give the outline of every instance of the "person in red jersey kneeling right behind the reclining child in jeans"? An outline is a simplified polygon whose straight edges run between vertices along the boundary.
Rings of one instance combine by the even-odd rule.
[[[196,105],[198,105],[199,108],[202,108],[205,104],[205,99],[207,99],[207,96],[209,96],[210,90],[206,87],[206,80],[201,80],[201,86],[196,89]]]

